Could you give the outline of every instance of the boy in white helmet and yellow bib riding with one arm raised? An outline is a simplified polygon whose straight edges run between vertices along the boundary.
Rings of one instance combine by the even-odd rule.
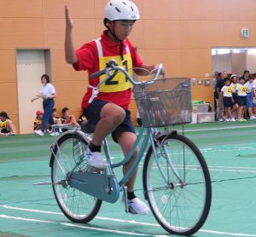
[[[101,145],[104,137],[112,133],[113,140],[118,142],[126,155],[136,141],[134,126],[131,123],[131,112],[128,110],[131,102],[131,83],[122,73],[113,75],[113,78],[102,84],[98,95],[93,96],[92,90],[104,78],[91,79],[94,72],[103,70],[106,63],[114,59],[124,68],[143,67],[153,72],[156,66],[145,66],[137,55],[137,50],[128,39],[136,20],[140,19],[139,10],[135,3],[128,0],[112,0],[105,7],[103,24],[107,28],[102,36],[90,43],[84,43],[80,49],[73,46],[73,19],[66,4],[66,34],[65,55],[66,61],[72,64],[77,71],[86,70],[89,74],[89,86],[82,101],[86,119],[96,124],[96,130],[85,150],[89,165],[104,170],[106,164],[102,159]],[[137,75],[146,75],[145,70],[136,70]],[[131,70],[129,73],[132,73]],[[131,162],[123,167],[124,174],[129,171],[133,159],[136,158],[138,148],[133,154]],[[133,214],[147,214],[148,206],[134,194],[134,185],[137,176],[135,171],[126,184],[128,189],[129,210]]]

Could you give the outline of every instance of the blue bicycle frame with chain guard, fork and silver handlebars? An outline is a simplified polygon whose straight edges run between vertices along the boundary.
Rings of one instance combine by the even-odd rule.
[[[101,76],[102,74],[106,74],[107,77],[102,80],[102,82],[100,82],[100,84],[98,84],[98,86],[96,88],[93,88],[93,90],[98,90],[98,88],[100,87],[100,85],[104,82],[106,82],[108,80],[108,78],[112,75],[113,69],[117,68],[119,71],[123,72],[125,74],[125,77],[127,79],[129,79],[131,81],[132,84],[141,84],[141,83],[137,83],[135,82],[130,75],[128,74],[128,72],[125,71],[124,68],[119,67],[119,66],[115,66],[114,61],[109,62],[109,67],[107,67],[106,69],[100,71],[100,72],[96,72],[93,75],[91,75],[91,78],[96,78]],[[149,82],[145,82],[145,84],[154,84],[154,81],[158,78],[158,76],[160,75],[162,69],[162,65],[160,65],[160,67],[158,68],[155,77],[152,81]],[[90,98],[93,99],[93,98]],[[57,125],[56,125],[57,126]],[[143,137],[143,134],[146,130],[146,135]],[[73,131],[74,132],[74,131]],[[86,136],[82,131],[76,131],[75,132],[79,132],[80,135],[82,135],[84,137],[85,142],[89,143],[90,142],[90,138],[89,136]],[[104,149],[104,152],[106,154],[106,158],[107,158],[107,169],[105,172],[94,172],[94,176],[91,176],[91,172],[79,172],[76,171],[77,167],[84,161],[84,151],[81,151],[81,156],[79,156],[79,161],[76,161],[76,165],[74,165],[73,169],[71,171],[67,171],[67,173],[65,173],[65,176],[67,176],[67,179],[71,180],[71,186],[73,188],[78,188],[80,191],[84,192],[84,193],[88,193],[91,194],[93,196],[95,196],[96,198],[102,199],[102,200],[106,200],[108,202],[115,202],[116,199],[118,199],[119,197],[119,192],[120,189],[123,188],[125,191],[125,183],[129,180],[129,178],[131,177],[132,173],[137,169],[137,165],[139,164],[139,162],[143,159],[143,154],[145,153],[146,148],[148,147],[148,142],[151,143],[151,146],[153,147],[153,151],[154,151],[154,158],[156,161],[156,164],[158,166],[158,169],[160,170],[160,174],[161,176],[163,176],[164,180],[166,181],[166,184],[168,185],[168,180],[167,177],[165,176],[164,172],[161,171],[161,166],[159,164],[159,160],[157,159],[157,152],[156,152],[156,138],[155,138],[155,134],[157,133],[157,129],[156,128],[144,128],[143,126],[141,127],[139,134],[137,136],[136,142],[133,144],[133,146],[131,147],[131,151],[125,156],[125,158],[116,164],[112,164],[111,163],[111,155],[110,155],[110,151],[108,148],[108,141],[105,138],[102,142],[102,147]],[[134,161],[131,165],[131,168],[129,169],[129,171],[127,171],[127,173],[125,174],[125,176],[123,176],[123,178],[120,181],[117,181],[116,176],[114,174],[113,169],[116,167],[119,167],[121,165],[125,165],[127,164],[133,157],[133,154],[135,153],[139,143],[142,142],[142,145],[139,149],[139,152],[137,153],[137,157],[134,158]],[[58,145],[58,142],[55,142],[55,146],[57,148],[57,151],[59,153],[61,153],[61,149]],[[54,153],[54,147],[53,146],[51,148],[52,152]],[[165,149],[163,149],[164,153],[166,153]],[[55,159],[57,159],[57,163],[58,165],[60,165],[61,167],[61,162],[60,160],[56,157],[55,153],[54,153]],[[172,161],[171,158],[167,155],[166,153],[166,161],[167,161],[167,165],[170,165],[172,168],[172,171],[174,171],[175,175],[177,176],[178,180],[182,182],[182,180],[178,177],[177,171],[174,168],[174,165],[172,165]],[[63,167],[61,167],[61,171],[64,173],[65,170],[63,169]],[[102,180],[105,180],[106,182],[102,182]],[[97,182],[97,186],[100,186],[100,188],[95,188],[93,186],[91,186],[90,188],[90,183],[94,183]],[[84,185],[86,184],[86,185]],[[102,186],[101,186],[102,185]],[[84,187],[86,186],[86,187]],[[104,187],[103,187],[104,186]],[[91,190],[91,189],[96,189],[96,190]],[[102,194],[106,193],[106,190],[108,190],[108,194],[112,193],[111,196],[108,196],[106,194]],[[100,194],[101,193],[101,194]]]

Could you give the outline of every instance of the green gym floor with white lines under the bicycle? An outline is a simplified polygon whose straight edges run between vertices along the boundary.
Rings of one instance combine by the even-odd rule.
[[[212,177],[212,208],[194,236],[256,237],[256,122],[188,124],[184,130],[200,147]],[[49,135],[0,137],[0,236],[168,235],[152,214],[126,214],[120,201],[103,203],[90,223],[71,223],[51,186],[33,185],[50,181],[52,142]],[[120,156],[118,146],[109,142],[113,156]],[[143,198],[141,172],[136,188]]]

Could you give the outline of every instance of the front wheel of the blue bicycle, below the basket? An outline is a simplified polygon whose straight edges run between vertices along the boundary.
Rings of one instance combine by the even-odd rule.
[[[154,217],[170,234],[195,234],[205,223],[212,200],[207,163],[188,138],[161,136],[143,168],[143,187]]]

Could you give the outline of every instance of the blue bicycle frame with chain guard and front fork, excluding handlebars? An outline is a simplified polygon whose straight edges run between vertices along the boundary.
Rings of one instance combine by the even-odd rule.
[[[56,125],[57,126],[57,125]],[[145,136],[143,137],[144,133],[146,131]],[[167,134],[169,134],[171,131],[168,131]],[[89,142],[90,141],[90,136],[84,134],[81,130],[69,130],[67,133],[79,133],[84,137],[84,139]],[[64,133],[65,135],[66,133]],[[143,159],[143,154],[145,153],[148,144],[151,144],[153,151],[154,151],[154,159],[156,161],[156,164],[158,166],[158,169],[160,171],[161,176],[163,179],[166,181],[166,185],[168,185],[168,178],[164,174],[164,172],[161,170],[161,165],[159,163],[159,160],[157,159],[157,152],[156,152],[156,147],[158,146],[155,138],[155,134],[158,134],[158,131],[156,128],[144,128],[143,126],[139,130],[137,140],[131,147],[131,151],[125,156],[122,161],[119,163],[112,164],[111,162],[111,154],[108,148],[108,141],[105,138],[104,141],[102,142],[102,147],[105,151],[105,155],[107,158],[107,169],[105,172],[79,172],[76,171],[77,167],[84,161],[84,155],[82,155],[79,158],[79,161],[74,165],[73,169],[71,171],[64,171],[64,168],[61,165],[61,162],[55,155],[54,149],[52,148],[52,153],[55,156],[55,159],[57,160],[58,165],[60,165],[61,171],[67,176],[67,179],[70,180],[71,186],[73,188],[78,188],[80,191],[85,192],[87,194],[91,194],[95,196],[96,198],[100,198],[102,200],[105,200],[110,203],[114,203],[118,198],[119,198],[119,193],[120,190],[123,190],[125,192],[125,183],[129,180],[131,177],[132,173],[137,169],[137,165],[139,162]],[[137,153],[137,157],[134,159],[130,170],[125,174],[125,176],[122,177],[121,180],[117,180],[113,169],[117,168],[121,165],[127,164],[131,158],[133,153],[136,151],[139,143],[142,142],[142,145],[140,146],[139,152]],[[61,149],[58,145],[58,142],[55,143],[55,146],[57,148],[57,151],[61,153]],[[54,146],[53,146],[54,147]],[[183,184],[182,179],[178,176],[177,171],[172,165],[172,159],[167,155],[165,149],[163,151],[166,156],[166,161],[167,165],[170,165],[172,171],[174,174],[177,176],[178,180],[180,183]],[[81,150],[81,153],[84,153],[84,151]],[[94,183],[97,183],[97,188],[94,186]],[[85,185],[84,185],[85,184]],[[86,188],[85,188],[86,186]],[[104,193],[104,194],[102,194]]]

